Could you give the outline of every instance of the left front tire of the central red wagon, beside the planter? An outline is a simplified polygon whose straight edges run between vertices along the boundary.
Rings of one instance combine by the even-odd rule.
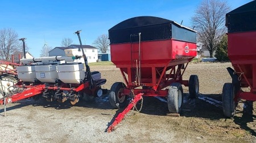
[[[118,100],[118,93],[121,92],[120,90],[125,88],[125,84],[121,82],[116,82],[111,86],[110,93],[109,93],[109,102],[110,105],[114,108],[122,108],[125,107],[127,103],[127,96],[123,102],[119,102]]]

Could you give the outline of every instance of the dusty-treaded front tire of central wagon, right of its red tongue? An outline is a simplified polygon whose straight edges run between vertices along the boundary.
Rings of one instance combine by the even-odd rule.
[[[171,113],[177,114],[181,112],[183,105],[183,89],[180,83],[172,83],[170,85],[167,96],[167,105],[168,110]]]

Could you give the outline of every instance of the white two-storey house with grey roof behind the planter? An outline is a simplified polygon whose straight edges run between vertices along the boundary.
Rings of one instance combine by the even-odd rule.
[[[55,47],[49,51],[49,56],[65,55],[65,49],[78,49],[80,45],[69,45],[68,47]],[[87,57],[88,63],[97,62],[98,59],[98,50],[96,47],[90,45],[82,45],[85,55]],[[84,63],[84,59],[78,59],[75,62]]]

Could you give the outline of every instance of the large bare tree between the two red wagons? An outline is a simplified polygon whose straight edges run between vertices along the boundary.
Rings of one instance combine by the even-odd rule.
[[[226,1],[203,0],[192,17],[192,24],[197,31],[198,41],[207,47],[210,57],[226,32],[225,15],[230,11]]]

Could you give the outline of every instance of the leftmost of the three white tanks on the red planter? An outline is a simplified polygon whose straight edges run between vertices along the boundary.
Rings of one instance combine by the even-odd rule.
[[[18,66],[16,69],[18,71],[18,78],[20,80],[23,82],[35,82],[35,65]]]

